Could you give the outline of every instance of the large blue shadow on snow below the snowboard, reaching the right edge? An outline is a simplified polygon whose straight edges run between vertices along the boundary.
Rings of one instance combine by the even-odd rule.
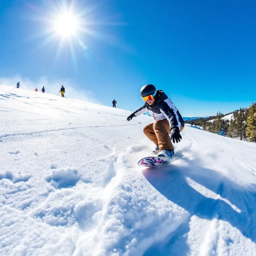
[[[186,159],[185,159],[186,160]],[[217,218],[229,222],[243,236],[256,241],[255,188],[242,187],[220,173],[204,168],[199,159],[186,160],[187,166],[167,165],[145,169],[143,175],[164,197],[201,219]],[[190,183],[199,185],[226,198],[241,212],[234,210],[228,203],[219,198],[208,198],[199,193]],[[162,242],[152,245],[146,252],[149,255],[187,255],[187,233],[190,230],[190,219],[181,224]],[[230,239],[232,242],[232,240]]]

